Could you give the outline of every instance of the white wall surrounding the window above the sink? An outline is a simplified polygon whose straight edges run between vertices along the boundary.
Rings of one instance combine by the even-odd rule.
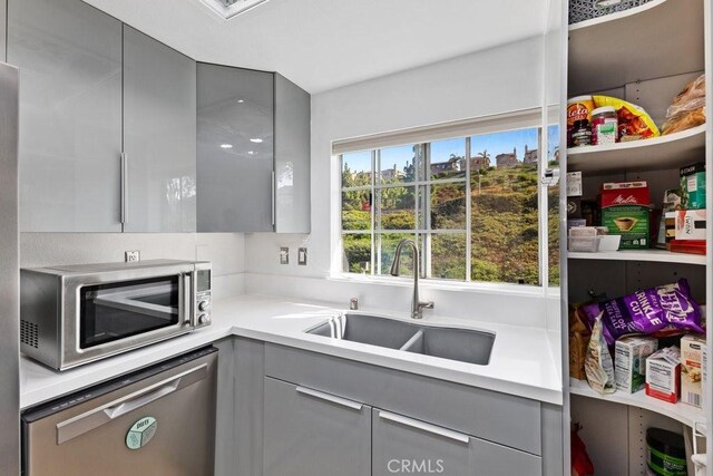
[[[253,274],[246,278],[246,290],[329,301],[343,301],[352,293],[361,294],[362,302],[370,299],[368,305],[408,309],[410,294],[403,285],[324,281],[333,255],[341,263],[338,233],[331,225],[339,213],[332,205],[339,200],[334,184],[340,172],[331,156],[332,140],[540,107],[546,89],[543,56],[538,37],[312,96],[312,233],[247,234],[246,272]],[[303,245],[309,250],[307,265],[299,266],[296,251]],[[279,262],[280,246],[290,247],[289,265]],[[477,315],[480,320],[546,327],[544,300],[531,294],[516,292],[524,301],[510,298],[514,305],[498,305],[508,298],[491,299],[495,294],[488,290],[469,293],[427,286],[423,292],[437,305],[441,301],[441,312],[472,315],[475,311],[482,313]],[[476,311],[478,302],[489,305]],[[526,302],[531,305],[524,318]]]

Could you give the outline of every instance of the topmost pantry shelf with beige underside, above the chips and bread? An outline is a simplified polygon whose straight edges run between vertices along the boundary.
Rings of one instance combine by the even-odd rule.
[[[569,95],[703,71],[704,0],[653,0],[569,26]]]

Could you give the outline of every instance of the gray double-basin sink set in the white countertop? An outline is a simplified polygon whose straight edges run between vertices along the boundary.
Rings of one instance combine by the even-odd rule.
[[[312,336],[487,366],[495,333],[345,313],[305,330]]]

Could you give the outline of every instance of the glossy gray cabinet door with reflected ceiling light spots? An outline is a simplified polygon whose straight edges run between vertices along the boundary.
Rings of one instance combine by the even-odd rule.
[[[197,66],[199,232],[273,231],[273,74]]]

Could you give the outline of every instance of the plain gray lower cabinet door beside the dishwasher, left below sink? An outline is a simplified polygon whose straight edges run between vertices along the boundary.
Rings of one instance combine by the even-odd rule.
[[[264,476],[370,476],[371,407],[265,378]]]

